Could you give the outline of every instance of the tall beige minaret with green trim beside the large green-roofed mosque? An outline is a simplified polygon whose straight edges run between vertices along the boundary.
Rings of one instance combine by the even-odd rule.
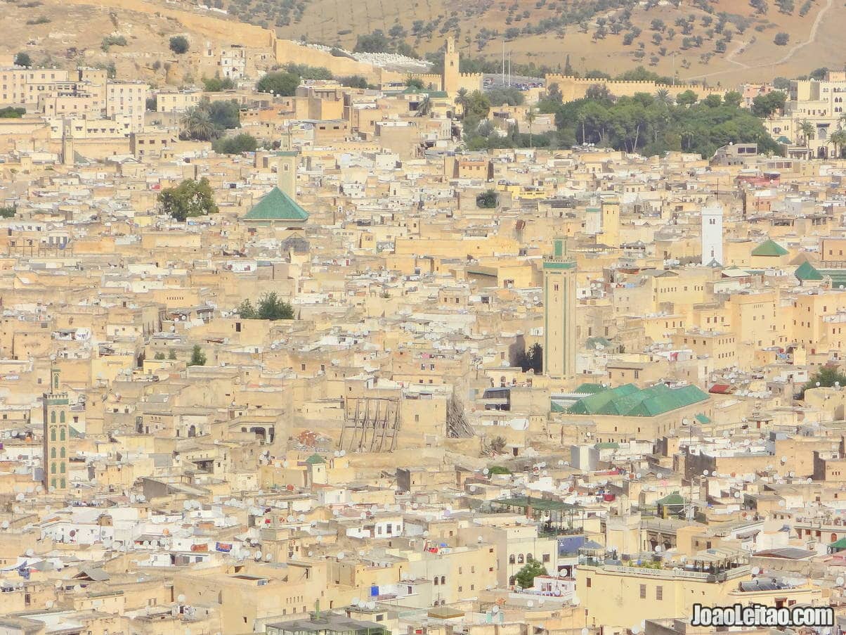
[[[543,258],[543,373],[569,379],[576,373],[576,262],[567,239],[552,241]]]

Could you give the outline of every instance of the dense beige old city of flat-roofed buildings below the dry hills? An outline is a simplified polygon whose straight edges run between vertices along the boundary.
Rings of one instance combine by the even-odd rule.
[[[842,632],[846,73],[171,49],[0,56],[0,635]]]

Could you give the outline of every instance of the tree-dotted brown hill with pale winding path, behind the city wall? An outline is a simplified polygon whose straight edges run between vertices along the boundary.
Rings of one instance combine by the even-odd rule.
[[[645,65],[682,80],[736,84],[839,67],[846,43],[838,24],[846,7],[835,0],[215,0],[242,19],[276,25],[279,36],[352,49],[360,35],[382,30],[394,47],[437,51],[455,36],[461,51],[499,59],[503,40],[516,62],[617,73]],[[722,15],[722,17],[721,17]],[[662,30],[652,21],[663,23]],[[660,29],[660,27],[659,27]],[[774,39],[786,33],[788,41]]]

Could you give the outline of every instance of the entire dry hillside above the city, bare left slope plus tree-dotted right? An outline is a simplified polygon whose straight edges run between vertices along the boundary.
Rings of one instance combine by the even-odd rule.
[[[249,18],[251,24],[277,25],[283,38],[350,50],[359,36],[377,30],[384,36],[371,38],[376,47],[420,55],[437,52],[452,35],[465,56],[498,63],[508,40],[515,63],[563,69],[569,58],[576,72],[615,75],[642,65],[709,85],[842,66],[846,43],[836,30],[846,20],[843,3],[753,2],[759,8],[735,0],[678,7],[655,0],[459,0],[448,8],[444,0],[411,0],[410,7],[398,0],[211,0],[228,9],[227,16],[158,0],[16,0],[3,3],[7,30],[0,52],[26,51],[37,64],[113,63],[118,76],[173,84],[192,78],[168,51],[170,36],[184,34],[198,43],[261,39],[245,31],[248,20],[238,23]],[[773,41],[778,33],[787,34],[783,46]],[[123,36],[125,46],[102,50],[107,36]]]

